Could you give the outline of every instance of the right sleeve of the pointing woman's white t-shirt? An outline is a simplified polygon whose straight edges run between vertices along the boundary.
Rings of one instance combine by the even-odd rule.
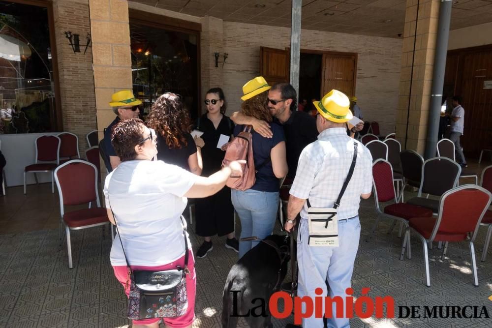
[[[178,197],[183,197],[193,186],[197,176],[179,166],[166,164],[158,161],[159,165],[155,172],[155,183],[160,190]]]

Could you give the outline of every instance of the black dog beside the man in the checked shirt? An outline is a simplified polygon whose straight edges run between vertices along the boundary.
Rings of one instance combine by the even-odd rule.
[[[251,328],[272,327],[268,301],[270,296],[276,292],[274,288],[278,280],[278,271],[280,270],[280,283],[287,274],[287,264],[290,260],[290,238],[272,235],[265,238],[265,240],[267,239],[272,240],[280,249],[283,261],[280,263],[280,258],[274,247],[260,241],[231,268],[224,286],[223,328],[235,328],[239,319],[238,317],[231,317],[234,313],[234,295],[230,291],[240,291],[237,294],[237,314],[246,314],[251,308],[260,305],[259,301],[253,303],[253,299],[264,299],[267,316],[253,317],[250,315],[246,317],[246,322]],[[256,312],[258,313],[259,310]]]

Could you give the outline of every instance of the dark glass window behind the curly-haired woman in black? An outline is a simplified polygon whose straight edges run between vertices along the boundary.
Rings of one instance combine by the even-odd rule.
[[[180,32],[130,21],[133,93],[145,116],[162,93],[182,96],[190,116],[198,114],[198,33]]]

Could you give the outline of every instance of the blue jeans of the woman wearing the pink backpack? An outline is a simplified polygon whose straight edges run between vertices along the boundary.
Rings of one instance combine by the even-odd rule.
[[[241,219],[241,238],[255,236],[258,239],[265,239],[272,234],[277,218],[278,192],[233,189],[231,199]],[[242,258],[258,242],[240,241],[239,258]]]

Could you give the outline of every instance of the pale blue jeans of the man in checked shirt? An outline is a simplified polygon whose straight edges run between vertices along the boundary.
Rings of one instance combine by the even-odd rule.
[[[297,263],[299,265],[299,282],[297,294],[299,297],[309,296],[314,299],[314,290],[321,288],[322,296],[334,298],[340,296],[345,300],[345,289],[351,286],[350,280],[354,270],[355,257],[359,248],[361,223],[359,217],[338,221],[338,247],[309,246],[309,228],[307,219],[301,219],[297,234]],[[328,286],[326,283],[328,282]],[[367,286],[369,287],[369,286]],[[329,290],[328,290],[329,288]],[[335,316],[336,302],[333,302]],[[303,304],[303,311],[306,311]],[[324,303],[323,312],[325,313]],[[303,319],[303,327],[322,328],[323,319]],[[329,328],[350,327],[348,318],[329,318]]]

